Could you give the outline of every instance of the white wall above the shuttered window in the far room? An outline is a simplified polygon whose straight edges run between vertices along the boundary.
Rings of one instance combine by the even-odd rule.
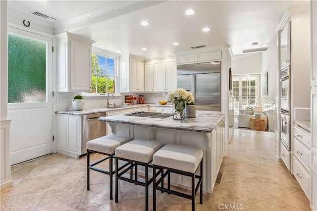
[[[262,71],[262,53],[235,55],[231,60],[233,75],[255,74]]]

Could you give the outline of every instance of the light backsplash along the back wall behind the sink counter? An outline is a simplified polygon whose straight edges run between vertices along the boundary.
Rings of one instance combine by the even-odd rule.
[[[74,96],[82,95],[82,92],[58,92],[57,93],[57,110],[58,111],[70,111],[73,110],[72,101]],[[121,93],[121,96],[109,95],[109,104],[122,105],[125,102],[124,95],[133,95],[137,97],[136,103],[139,103],[139,95],[144,96],[144,103],[146,104],[158,104],[159,100],[166,100],[167,92],[163,93]],[[84,96],[85,106],[84,109],[106,107],[107,96]]]

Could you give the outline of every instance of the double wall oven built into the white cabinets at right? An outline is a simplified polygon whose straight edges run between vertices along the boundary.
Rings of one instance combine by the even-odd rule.
[[[290,66],[281,70],[281,142],[290,151]]]

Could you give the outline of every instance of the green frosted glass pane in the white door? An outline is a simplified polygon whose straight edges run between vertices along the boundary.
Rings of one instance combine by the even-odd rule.
[[[8,103],[47,101],[47,43],[8,34]]]

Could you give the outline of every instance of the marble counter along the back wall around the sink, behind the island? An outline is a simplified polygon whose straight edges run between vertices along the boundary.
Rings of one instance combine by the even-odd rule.
[[[56,111],[57,114],[71,114],[71,115],[86,115],[86,114],[95,114],[95,113],[101,113],[101,112],[110,112],[110,111],[117,111],[122,109],[131,109],[131,108],[139,108],[139,107],[146,107],[146,106],[156,106],[156,107],[172,107],[172,104],[166,104],[166,105],[160,105],[160,104],[135,104],[132,106],[125,106],[125,107],[119,107],[119,108],[90,108],[90,109],[84,109],[81,111]]]

